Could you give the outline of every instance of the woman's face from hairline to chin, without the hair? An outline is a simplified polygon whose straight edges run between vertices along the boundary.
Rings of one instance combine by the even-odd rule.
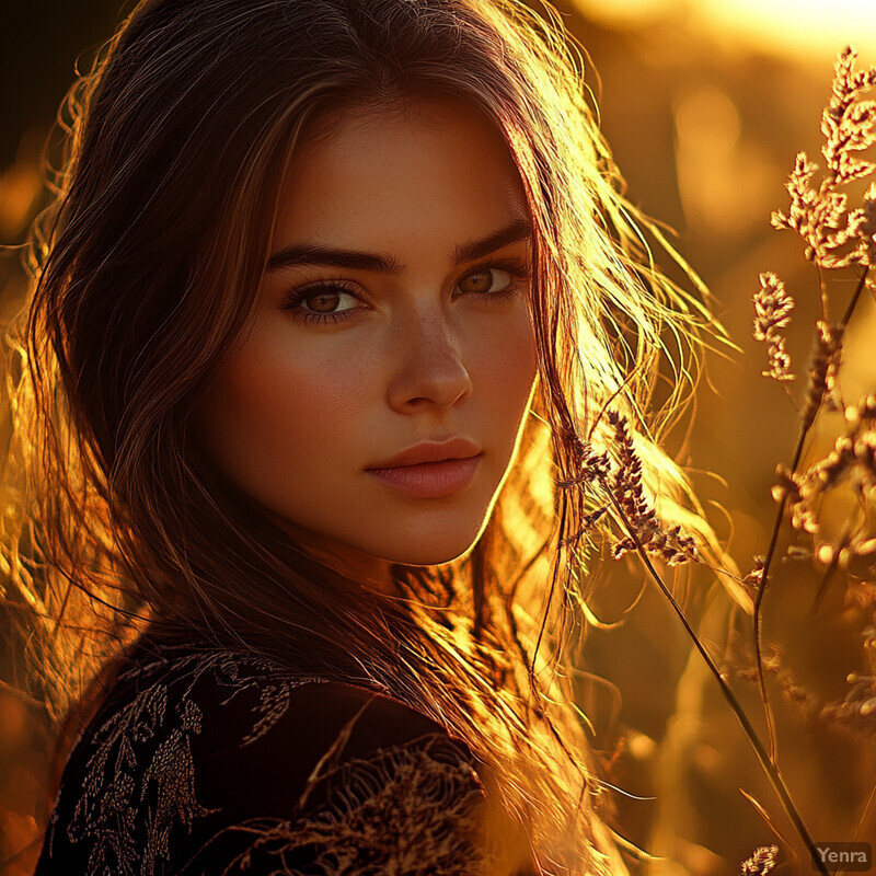
[[[459,556],[488,517],[535,378],[530,232],[464,103],[331,122],[287,170],[253,331],[196,425],[290,533],[373,579]]]

